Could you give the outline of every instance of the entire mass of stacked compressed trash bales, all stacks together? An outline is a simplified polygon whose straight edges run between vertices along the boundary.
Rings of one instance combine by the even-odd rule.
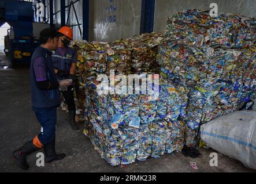
[[[168,18],[166,35],[74,41],[77,113],[95,150],[113,166],[158,158],[184,145],[190,150],[201,124],[248,108],[256,87],[255,26],[255,20],[233,14],[214,18],[186,10]],[[138,78],[160,74],[158,96],[99,95],[97,76],[106,74],[111,84],[110,71]]]

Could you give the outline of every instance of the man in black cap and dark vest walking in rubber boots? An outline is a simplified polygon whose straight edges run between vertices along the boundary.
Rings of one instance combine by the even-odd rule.
[[[13,151],[18,166],[28,170],[26,158],[32,152],[44,149],[46,163],[61,160],[65,154],[55,152],[55,131],[57,121],[57,108],[60,106],[59,87],[65,87],[63,81],[58,82],[53,68],[51,53],[58,46],[60,37],[54,28],[47,28],[40,32],[42,45],[35,49],[30,67],[30,82],[32,95],[32,110],[40,122],[41,132],[34,139],[28,141],[19,150]]]

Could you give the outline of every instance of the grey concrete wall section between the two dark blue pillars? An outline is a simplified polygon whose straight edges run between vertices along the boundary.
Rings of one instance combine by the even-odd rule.
[[[90,41],[114,41],[140,33],[141,0],[94,0],[90,3]],[[116,11],[107,11],[107,7],[114,5]],[[106,21],[114,15],[116,22]]]

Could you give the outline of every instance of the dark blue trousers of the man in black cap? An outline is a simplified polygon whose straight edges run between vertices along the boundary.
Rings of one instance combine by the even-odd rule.
[[[41,133],[38,135],[38,139],[41,144],[47,144],[55,137],[56,122],[57,122],[57,106],[51,108],[34,108],[32,110],[36,114],[41,125]]]

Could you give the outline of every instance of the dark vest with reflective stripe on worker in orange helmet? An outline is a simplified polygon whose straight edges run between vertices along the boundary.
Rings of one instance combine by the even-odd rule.
[[[68,79],[69,71],[71,69],[72,60],[73,60],[73,57],[75,56],[75,54],[76,54],[76,51],[69,47],[66,48],[66,52],[65,52],[64,56],[61,55],[61,53],[58,51],[58,48],[53,53],[52,57],[53,57],[54,67],[57,68],[58,70],[65,71],[65,73],[66,73],[66,76],[64,76],[62,78],[60,78],[60,76],[57,76],[57,78],[59,80]]]

